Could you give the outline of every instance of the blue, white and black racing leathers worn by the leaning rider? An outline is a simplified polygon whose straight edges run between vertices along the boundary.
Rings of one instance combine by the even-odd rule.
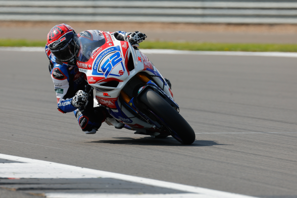
[[[94,31],[89,32],[94,33]],[[98,33],[99,31],[96,32]],[[122,40],[126,34],[125,32],[115,33],[119,35],[120,40]],[[94,36],[95,35],[93,35],[93,37]],[[72,105],[72,98],[75,96],[75,93],[79,90],[85,90],[85,85],[88,84],[85,74],[80,72],[76,65],[68,65],[56,60],[56,57],[50,52],[48,44],[45,50],[50,60],[49,72],[54,83],[59,111],[63,113],[73,111],[78,120],[78,124],[86,134],[96,133],[101,126],[99,120],[103,119],[103,115],[100,113],[100,107],[96,107],[91,111],[85,111],[82,110],[81,107],[77,108]]]

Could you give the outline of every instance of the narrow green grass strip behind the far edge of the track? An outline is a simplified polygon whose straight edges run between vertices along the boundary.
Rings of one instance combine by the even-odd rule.
[[[0,47],[44,47],[46,41],[0,39]],[[178,49],[192,51],[288,51],[297,52],[296,44],[230,44],[198,42],[144,41],[140,49]]]

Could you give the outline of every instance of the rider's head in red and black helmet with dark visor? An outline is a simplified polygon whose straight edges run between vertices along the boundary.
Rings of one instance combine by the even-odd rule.
[[[55,25],[48,34],[48,45],[51,53],[59,61],[75,65],[75,43],[77,35],[74,29],[63,23]],[[78,50],[78,49],[77,49]]]

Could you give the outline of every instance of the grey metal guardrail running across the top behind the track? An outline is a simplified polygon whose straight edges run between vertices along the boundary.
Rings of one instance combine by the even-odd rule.
[[[0,20],[297,24],[297,1],[0,0]]]

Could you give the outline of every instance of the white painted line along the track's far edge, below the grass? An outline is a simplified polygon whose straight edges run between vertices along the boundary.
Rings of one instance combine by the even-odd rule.
[[[45,51],[43,47],[0,47],[1,51]],[[239,55],[239,56],[272,56],[297,57],[297,52],[247,52],[247,51],[188,51],[175,49],[141,49],[151,54],[184,54],[184,55]]]

